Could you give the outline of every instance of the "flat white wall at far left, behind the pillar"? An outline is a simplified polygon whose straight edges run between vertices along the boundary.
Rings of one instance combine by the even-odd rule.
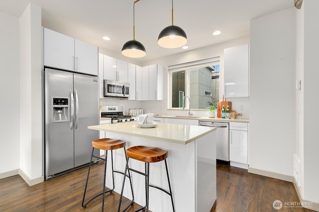
[[[0,12],[0,178],[19,168],[19,19]]]

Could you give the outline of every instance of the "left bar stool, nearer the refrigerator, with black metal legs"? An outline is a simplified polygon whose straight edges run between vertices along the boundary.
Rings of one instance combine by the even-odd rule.
[[[82,200],[82,207],[86,208],[87,204],[90,203],[92,200],[94,200],[95,198],[99,197],[102,195],[102,212],[103,212],[103,208],[104,208],[104,195],[105,193],[112,193],[114,190],[114,172],[116,173],[120,173],[124,175],[124,179],[126,177],[129,177],[130,179],[130,184],[131,184],[131,190],[132,190],[132,197],[133,200],[130,203],[130,205],[128,206],[128,208],[133,204],[134,202],[134,194],[133,194],[133,187],[132,187],[132,181],[131,181],[131,175],[130,172],[128,172],[128,175],[126,175],[126,172],[120,172],[120,171],[115,171],[113,168],[113,150],[115,149],[119,149],[119,148],[124,148],[124,153],[126,152],[125,150],[125,146],[126,146],[126,142],[122,141],[122,140],[114,140],[114,139],[98,139],[95,141],[92,141],[92,154],[91,154],[91,160],[90,160],[90,165],[89,165],[89,169],[88,169],[88,175],[86,178],[86,183],[85,183],[85,189],[84,189],[84,194],[83,194],[83,200]],[[102,158],[100,156],[94,155],[94,148],[98,148],[98,149],[102,149],[102,150],[106,150],[105,153],[105,158]],[[105,191],[105,179],[106,179],[106,163],[107,163],[107,156],[108,156],[108,150],[111,150],[111,161],[112,161],[112,180],[113,180],[113,188]],[[84,199],[85,199],[85,193],[86,193],[86,189],[87,189],[87,185],[88,185],[88,180],[89,180],[89,175],[90,175],[90,169],[91,169],[91,165],[92,165],[92,158],[98,158],[101,160],[104,160],[104,181],[103,181],[103,192],[97,194],[96,196],[94,196],[92,199],[90,199],[86,204],[84,204]],[[126,161],[128,161],[127,156],[126,157]]]

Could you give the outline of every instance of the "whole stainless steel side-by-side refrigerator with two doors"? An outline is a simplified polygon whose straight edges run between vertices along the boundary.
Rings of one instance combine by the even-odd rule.
[[[89,163],[99,124],[98,77],[44,69],[45,179]],[[98,154],[97,149],[97,154]]]

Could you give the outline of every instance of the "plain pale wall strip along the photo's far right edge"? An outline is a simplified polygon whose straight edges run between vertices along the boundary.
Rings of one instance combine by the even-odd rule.
[[[319,1],[304,1],[304,198],[318,203],[319,210],[319,139],[316,97],[319,91]],[[315,103],[316,102],[316,103]]]

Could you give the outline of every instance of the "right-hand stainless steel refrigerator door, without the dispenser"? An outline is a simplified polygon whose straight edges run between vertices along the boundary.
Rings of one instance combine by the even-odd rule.
[[[74,73],[74,101],[74,166],[77,167],[90,162],[92,141],[99,139],[99,131],[88,129],[99,124],[98,77]],[[98,149],[95,154],[99,155]]]

